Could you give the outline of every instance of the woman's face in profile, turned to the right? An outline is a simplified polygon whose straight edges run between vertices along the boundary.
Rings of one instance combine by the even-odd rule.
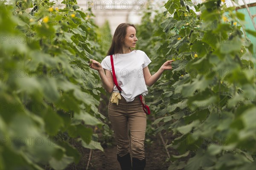
[[[136,37],[136,30],[134,27],[132,26],[128,26],[126,28],[126,36],[125,36],[125,40],[124,40],[124,46],[125,47],[130,47],[130,48],[135,48],[136,45],[136,41],[137,41],[137,37]]]

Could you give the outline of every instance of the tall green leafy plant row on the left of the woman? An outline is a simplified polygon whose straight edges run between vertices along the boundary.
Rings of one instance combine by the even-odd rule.
[[[64,169],[80,159],[71,139],[102,150],[91,11],[35,0],[1,1],[0,13],[0,169]]]

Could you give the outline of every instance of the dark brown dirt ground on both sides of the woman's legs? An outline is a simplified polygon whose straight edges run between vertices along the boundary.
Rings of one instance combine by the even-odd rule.
[[[121,170],[116,159],[116,146],[103,146],[101,150],[93,150],[90,166],[88,170]],[[72,164],[66,170],[85,170],[90,154],[90,150],[82,148],[83,156],[79,164]],[[155,137],[152,144],[145,143],[145,170],[168,170],[169,163],[165,163],[167,158],[166,151],[160,140]]]

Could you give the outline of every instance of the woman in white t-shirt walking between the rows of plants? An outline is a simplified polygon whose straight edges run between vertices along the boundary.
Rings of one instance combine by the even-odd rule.
[[[99,72],[102,85],[106,91],[112,93],[108,104],[108,116],[113,126],[117,142],[117,160],[122,170],[144,170],[145,153],[144,140],[146,129],[146,114],[143,111],[139,95],[148,94],[147,86],[153,85],[163,71],[172,69],[173,60],[163,63],[161,68],[151,75],[148,64],[151,60],[140,50],[135,48],[136,28],[132,24],[122,23],[113,35],[112,44],[107,57],[101,63],[91,59],[90,68]],[[111,58],[119,91],[113,83]],[[120,95],[121,93],[121,95]],[[128,125],[131,135],[131,157],[129,153]]]

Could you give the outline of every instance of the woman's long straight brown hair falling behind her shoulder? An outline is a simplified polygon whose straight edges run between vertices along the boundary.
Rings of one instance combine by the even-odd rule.
[[[129,24],[129,23],[122,23],[122,24],[119,24],[119,26],[117,26],[116,31],[113,35],[111,47],[108,50],[107,56],[117,54],[122,51],[122,46],[124,44],[124,40],[126,36],[126,29],[128,26],[132,26],[135,28],[133,24]],[[131,48],[130,50],[132,51]]]

